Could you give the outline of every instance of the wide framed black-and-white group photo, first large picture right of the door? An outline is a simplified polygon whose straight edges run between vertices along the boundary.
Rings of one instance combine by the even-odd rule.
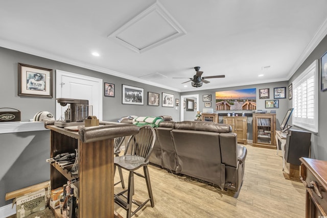
[[[144,105],[144,89],[123,84],[123,104]]]

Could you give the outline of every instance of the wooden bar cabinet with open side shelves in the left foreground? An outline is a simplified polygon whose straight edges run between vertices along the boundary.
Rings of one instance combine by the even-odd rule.
[[[124,128],[118,131],[114,130],[120,129],[117,125],[100,126],[99,130],[92,127],[95,130],[92,134],[81,135],[53,125],[46,128],[51,130],[50,157],[78,149],[78,176],[69,172],[73,164],[60,167],[56,162],[51,163],[51,188],[62,187],[67,180],[77,179],[73,184],[78,188],[78,217],[116,217],[113,210],[113,137],[127,135]],[[131,134],[137,132],[138,128],[129,131]],[[61,217],[60,210],[56,209],[54,213]]]

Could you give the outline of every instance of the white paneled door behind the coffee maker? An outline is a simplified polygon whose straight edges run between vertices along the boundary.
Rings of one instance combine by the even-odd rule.
[[[56,99],[83,99],[93,106],[93,115],[102,120],[102,79],[56,70]],[[56,119],[68,106],[62,107],[56,101]]]

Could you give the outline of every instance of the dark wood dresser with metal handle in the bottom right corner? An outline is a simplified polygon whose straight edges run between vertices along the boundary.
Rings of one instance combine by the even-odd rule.
[[[306,186],[306,217],[327,217],[327,161],[301,157],[300,179]]]

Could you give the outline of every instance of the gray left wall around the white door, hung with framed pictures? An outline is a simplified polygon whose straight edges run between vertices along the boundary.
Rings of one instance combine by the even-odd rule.
[[[21,121],[28,122],[39,111],[55,114],[55,88],[52,99],[18,96],[18,63],[50,68],[54,70],[53,87],[55,87],[55,70],[73,72],[103,79],[103,82],[115,84],[115,97],[103,95],[103,120],[116,122],[127,115],[158,116],[171,115],[179,120],[180,113],[176,107],[161,107],[162,92],[174,94],[180,99],[180,93],[162,89],[131,80],[110,76],[101,72],[4,49],[0,47],[0,108],[9,107],[21,111]],[[123,105],[122,84],[144,88],[145,105]],[[159,106],[148,106],[148,91],[160,94]],[[50,157],[50,132],[26,132],[0,134],[0,207],[11,204],[5,201],[7,192],[24,188],[50,179],[50,166],[45,159]],[[10,161],[9,161],[10,160]]]

